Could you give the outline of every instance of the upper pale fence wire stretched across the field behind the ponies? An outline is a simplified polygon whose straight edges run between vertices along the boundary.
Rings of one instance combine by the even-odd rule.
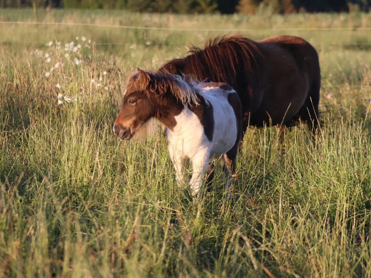
[[[123,29],[142,29],[142,30],[169,30],[169,31],[208,31],[208,32],[253,32],[253,31],[346,31],[346,30],[371,30],[371,27],[355,28],[283,28],[283,29],[182,29],[182,28],[162,28],[128,25],[109,25],[92,23],[64,23],[64,22],[32,22],[32,21],[0,21],[0,24],[42,24],[42,25],[67,25],[67,26],[91,26],[91,27],[109,27]]]

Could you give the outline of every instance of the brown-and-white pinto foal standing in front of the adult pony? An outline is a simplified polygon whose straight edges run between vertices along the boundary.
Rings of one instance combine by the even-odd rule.
[[[185,82],[178,75],[158,75],[137,69],[129,77],[113,131],[130,140],[155,119],[166,127],[169,154],[178,183],[184,182],[187,159],[193,172],[190,189],[200,195],[210,159],[224,161],[226,192],[232,186],[236,156],[242,139],[242,107],[237,93],[225,83]]]

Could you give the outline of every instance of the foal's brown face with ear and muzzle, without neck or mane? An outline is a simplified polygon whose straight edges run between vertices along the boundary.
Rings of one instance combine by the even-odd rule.
[[[116,138],[131,139],[155,116],[155,95],[151,92],[149,85],[149,74],[139,68],[129,77],[121,110],[113,128]]]

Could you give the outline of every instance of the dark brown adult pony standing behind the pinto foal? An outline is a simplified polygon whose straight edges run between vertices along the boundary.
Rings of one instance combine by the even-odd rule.
[[[159,71],[231,85],[242,102],[244,131],[249,124],[290,127],[299,119],[311,132],[317,128],[321,74],[318,54],[305,40],[274,36],[255,42],[233,34],[190,52]]]

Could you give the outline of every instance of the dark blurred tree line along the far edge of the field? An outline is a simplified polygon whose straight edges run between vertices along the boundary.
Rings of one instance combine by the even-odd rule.
[[[339,12],[371,8],[371,0],[0,0],[0,7],[127,9],[170,13]]]

